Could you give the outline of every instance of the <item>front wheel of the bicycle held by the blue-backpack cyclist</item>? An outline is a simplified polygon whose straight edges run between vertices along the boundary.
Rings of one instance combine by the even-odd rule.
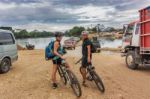
[[[74,94],[77,97],[80,97],[82,95],[82,90],[79,84],[79,81],[77,79],[77,77],[75,76],[75,74],[71,71],[67,71],[69,79],[71,81],[71,88],[73,89]]]

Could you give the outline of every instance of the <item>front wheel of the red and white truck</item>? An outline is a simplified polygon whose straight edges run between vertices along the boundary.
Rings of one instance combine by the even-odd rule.
[[[133,70],[138,68],[138,64],[135,63],[135,55],[133,51],[130,51],[127,53],[126,65],[128,66],[128,68],[133,69]]]

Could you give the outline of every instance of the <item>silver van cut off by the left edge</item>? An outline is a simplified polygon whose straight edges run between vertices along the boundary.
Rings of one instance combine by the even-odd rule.
[[[8,72],[12,63],[17,60],[17,45],[13,33],[0,29],[0,73]]]

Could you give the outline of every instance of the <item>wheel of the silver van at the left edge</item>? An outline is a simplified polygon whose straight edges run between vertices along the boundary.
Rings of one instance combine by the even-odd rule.
[[[10,70],[11,61],[8,58],[4,58],[0,65],[0,73],[7,73]]]

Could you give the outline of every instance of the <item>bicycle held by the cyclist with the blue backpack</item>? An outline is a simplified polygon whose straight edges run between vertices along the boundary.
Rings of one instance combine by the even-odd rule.
[[[66,64],[60,64],[58,65],[58,73],[65,85],[67,85],[67,82],[70,84],[71,88],[73,89],[74,94],[77,97],[80,97],[82,95],[82,90],[79,84],[79,81],[75,74],[66,68]]]

